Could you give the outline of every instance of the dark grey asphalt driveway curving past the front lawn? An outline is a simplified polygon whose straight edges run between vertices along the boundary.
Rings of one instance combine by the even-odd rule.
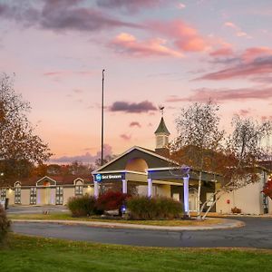
[[[246,226],[219,230],[158,231],[15,222],[13,229],[17,233],[46,238],[64,238],[134,246],[272,248],[271,218],[239,218],[239,220],[244,221]]]

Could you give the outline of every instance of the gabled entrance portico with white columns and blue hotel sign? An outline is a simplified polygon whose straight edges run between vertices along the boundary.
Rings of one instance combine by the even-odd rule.
[[[171,166],[170,166],[171,165]],[[112,186],[123,193],[130,193],[131,184],[136,188],[134,193],[148,197],[164,196],[184,202],[184,178],[181,168],[172,166],[173,161],[141,147],[133,147],[119,157],[108,162],[100,169],[92,172],[94,180],[94,196],[98,197],[103,189]],[[199,170],[191,170],[188,180],[186,198],[189,199],[187,211],[196,209],[192,189],[199,184]],[[200,200],[206,201],[207,194],[215,189],[214,173],[202,172]]]

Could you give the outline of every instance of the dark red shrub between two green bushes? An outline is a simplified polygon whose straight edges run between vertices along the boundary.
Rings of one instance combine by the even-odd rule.
[[[128,194],[123,194],[120,191],[107,191],[97,199],[96,208],[101,211],[121,209],[121,205],[128,197]]]

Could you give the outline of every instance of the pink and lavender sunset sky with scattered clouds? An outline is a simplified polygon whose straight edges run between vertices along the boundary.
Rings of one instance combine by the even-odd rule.
[[[31,103],[29,120],[52,162],[154,150],[164,119],[211,99],[233,114],[272,119],[270,0],[0,0],[0,72]]]

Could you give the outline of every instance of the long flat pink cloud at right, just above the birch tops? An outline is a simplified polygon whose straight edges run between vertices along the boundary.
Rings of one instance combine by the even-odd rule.
[[[166,102],[207,102],[209,99],[217,102],[223,101],[239,101],[248,99],[267,100],[272,98],[272,87],[266,89],[197,89],[193,90],[193,94],[188,97],[179,97],[171,95]]]

